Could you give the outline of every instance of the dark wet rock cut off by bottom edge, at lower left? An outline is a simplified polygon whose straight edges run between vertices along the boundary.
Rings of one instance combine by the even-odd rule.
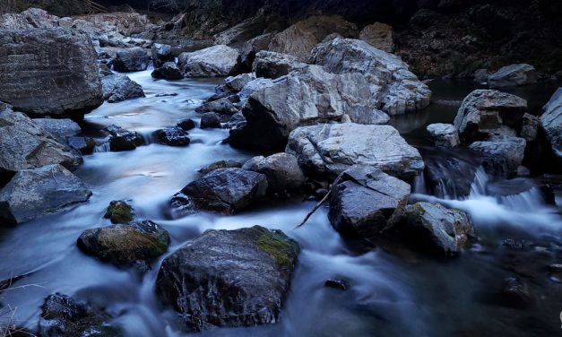
[[[99,307],[60,294],[49,295],[41,307],[39,336],[125,336],[111,321]]]

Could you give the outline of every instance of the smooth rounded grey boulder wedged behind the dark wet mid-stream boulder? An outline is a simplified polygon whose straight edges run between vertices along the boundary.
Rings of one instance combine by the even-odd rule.
[[[298,167],[297,158],[284,152],[272,154],[267,158],[255,157],[246,161],[242,168],[264,174],[272,192],[296,189],[307,179]]]

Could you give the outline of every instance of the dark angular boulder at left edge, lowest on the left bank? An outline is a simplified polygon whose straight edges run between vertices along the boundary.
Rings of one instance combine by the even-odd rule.
[[[60,165],[24,169],[0,190],[0,222],[16,225],[84,203],[91,191]]]

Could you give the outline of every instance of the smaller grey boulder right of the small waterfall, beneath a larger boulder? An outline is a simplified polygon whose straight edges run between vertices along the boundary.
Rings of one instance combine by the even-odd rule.
[[[471,143],[471,151],[484,155],[484,168],[498,176],[514,176],[523,162],[527,142],[523,138],[497,135]]]

